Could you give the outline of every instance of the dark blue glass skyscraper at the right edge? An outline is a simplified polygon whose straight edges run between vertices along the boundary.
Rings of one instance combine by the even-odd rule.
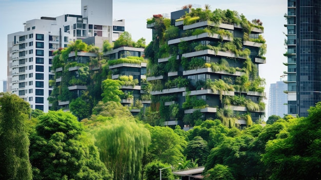
[[[308,116],[321,101],[321,1],[288,0],[288,114]]]

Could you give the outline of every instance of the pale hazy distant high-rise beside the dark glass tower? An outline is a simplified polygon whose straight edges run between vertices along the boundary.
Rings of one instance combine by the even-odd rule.
[[[288,89],[287,84],[278,81],[270,85],[268,117],[278,115],[283,117],[288,114],[288,95],[284,93]]]

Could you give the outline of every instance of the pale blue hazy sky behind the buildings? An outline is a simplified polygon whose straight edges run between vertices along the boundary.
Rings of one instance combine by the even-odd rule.
[[[93,0],[94,1],[94,0]],[[152,32],[146,28],[146,19],[153,14],[164,14],[180,10],[182,6],[192,4],[211,10],[230,9],[244,14],[246,18],[260,19],[264,26],[264,38],[267,44],[266,64],[259,65],[259,75],[266,79],[267,98],[271,83],[280,81],[280,76],[287,71],[283,62],[287,58],[284,32],[287,12],[287,0],[115,0],[113,1],[113,19],[125,19],[125,30],[131,33],[133,40],[144,37],[149,44]],[[194,6],[194,7],[195,7]],[[81,0],[0,0],[0,79],[7,78],[7,35],[23,31],[26,21],[42,16],[56,17],[63,14],[81,15]],[[265,100],[268,102],[268,99]],[[268,106],[266,106],[268,107]],[[266,110],[266,112],[268,112]]]

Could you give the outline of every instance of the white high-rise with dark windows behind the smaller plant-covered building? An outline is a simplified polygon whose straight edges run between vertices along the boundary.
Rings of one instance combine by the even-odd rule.
[[[33,109],[47,112],[52,91],[49,80],[54,78],[52,52],[92,36],[107,37],[112,42],[125,30],[125,21],[113,22],[112,0],[82,0],[82,15],[41,17],[24,26],[24,31],[8,35],[7,89],[28,101]]]

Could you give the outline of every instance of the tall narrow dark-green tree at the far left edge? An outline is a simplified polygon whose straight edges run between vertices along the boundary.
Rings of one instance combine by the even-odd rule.
[[[30,105],[15,94],[0,93],[0,178],[32,179],[26,123]]]

